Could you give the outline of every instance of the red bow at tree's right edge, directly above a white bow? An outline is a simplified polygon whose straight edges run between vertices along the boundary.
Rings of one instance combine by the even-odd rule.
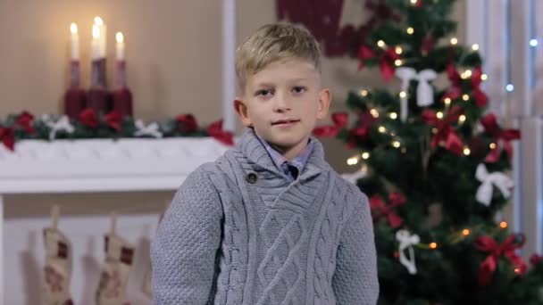
[[[487,114],[484,118],[480,120],[480,124],[492,136],[493,141],[496,144],[496,147],[490,150],[485,161],[489,163],[497,162],[501,152],[498,148],[500,144],[503,144],[505,152],[507,152],[507,157],[509,158],[509,160],[511,160],[511,157],[513,156],[513,146],[511,145],[511,141],[520,139],[521,132],[518,129],[500,129],[497,126],[497,120],[494,113]]]

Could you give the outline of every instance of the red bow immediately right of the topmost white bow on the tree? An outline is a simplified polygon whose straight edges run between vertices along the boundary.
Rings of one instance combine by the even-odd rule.
[[[480,78],[481,76],[482,69],[480,66],[477,66],[475,70],[472,71],[470,82],[472,84],[473,99],[475,100],[477,106],[483,108],[489,103],[489,97],[480,89],[480,83],[482,82],[482,79]],[[447,90],[444,97],[449,97],[450,99],[455,100],[456,98],[460,97],[462,93],[462,78],[452,63],[447,65],[447,77],[451,81],[452,87]]]

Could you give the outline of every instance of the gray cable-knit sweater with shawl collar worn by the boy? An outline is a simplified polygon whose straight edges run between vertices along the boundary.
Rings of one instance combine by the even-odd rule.
[[[155,304],[376,303],[367,197],[312,140],[292,183],[248,128],[187,177],[151,245]]]

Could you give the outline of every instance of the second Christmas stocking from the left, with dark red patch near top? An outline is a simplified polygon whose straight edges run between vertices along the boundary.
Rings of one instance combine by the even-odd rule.
[[[134,257],[134,247],[115,235],[115,216],[112,230],[105,235],[105,262],[96,292],[96,305],[129,305],[126,286]]]

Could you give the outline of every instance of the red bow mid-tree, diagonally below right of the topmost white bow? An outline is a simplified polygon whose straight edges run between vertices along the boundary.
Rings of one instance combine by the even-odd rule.
[[[453,106],[447,113],[447,117],[443,120],[438,118],[436,111],[425,109],[422,111],[422,120],[431,126],[435,126],[438,131],[431,138],[430,147],[435,148],[438,144],[444,143],[445,148],[461,155],[463,152],[463,144],[460,136],[456,134],[455,128],[451,126],[452,123],[458,121],[458,118],[462,114],[463,109],[460,106]]]

